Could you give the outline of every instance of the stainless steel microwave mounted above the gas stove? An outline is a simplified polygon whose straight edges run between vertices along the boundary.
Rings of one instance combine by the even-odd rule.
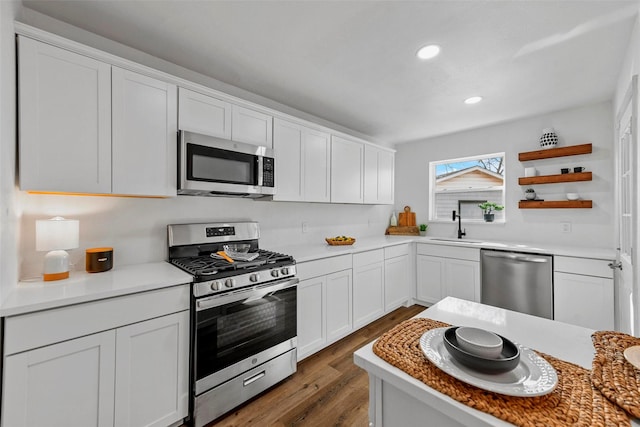
[[[275,194],[268,147],[180,131],[178,194],[259,198]]]

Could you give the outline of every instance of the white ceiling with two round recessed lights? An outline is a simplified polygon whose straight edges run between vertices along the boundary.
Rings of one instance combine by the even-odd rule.
[[[401,143],[611,99],[627,1],[31,1],[26,7]],[[442,46],[431,61],[415,57]],[[481,95],[469,106],[463,100]]]

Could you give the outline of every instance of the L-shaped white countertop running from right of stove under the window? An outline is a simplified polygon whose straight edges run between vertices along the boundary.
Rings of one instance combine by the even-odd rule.
[[[403,243],[428,243],[432,245],[461,246],[479,249],[500,249],[509,251],[544,253],[579,258],[613,260],[616,257],[614,249],[586,248],[559,245],[522,244],[508,241],[488,241],[473,239],[455,239],[436,236],[373,236],[356,238],[350,246],[329,246],[325,241],[305,243],[300,245],[284,245],[274,248],[283,253],[293,255],[297,262],[313,261],[332,256],[353,254]]]

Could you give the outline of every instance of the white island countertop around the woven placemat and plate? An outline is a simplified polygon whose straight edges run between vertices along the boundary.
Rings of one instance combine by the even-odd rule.
[[[591,334],[594,332],[592,329],[453,297],[441,300],[416,317],[428,317],[451,325],[488,329],[519,344],[591,369],[594,356],[594,348],[591,343]],[[438,410],[450,416],[456,413],[463,414],[461,416],[468,420],[471,415],[476,421],[474,424],[477,425],[511,425],[435,391],[376,356],[372,347],[373,342],[356,351],[354,361],[356,365],[374,376],[413,395],[420,394],[419,400],[437,405]],[[640,422],[633,420],[632,426],[639,427]]]

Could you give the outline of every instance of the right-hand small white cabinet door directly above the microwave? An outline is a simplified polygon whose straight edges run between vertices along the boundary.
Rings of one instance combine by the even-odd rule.
[[[238,105],[231,106],[231,139],[273,148],[273,117]]]

